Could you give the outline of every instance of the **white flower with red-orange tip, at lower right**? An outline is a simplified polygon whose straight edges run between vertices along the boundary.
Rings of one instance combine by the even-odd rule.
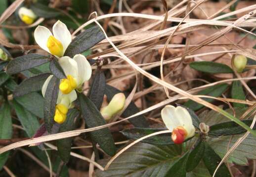
[[[162,109],[161,116],[166,127],[172,132],[171,139],[175,144],[181,144],[195,135],[192,118],[185,108],[167,105]]]

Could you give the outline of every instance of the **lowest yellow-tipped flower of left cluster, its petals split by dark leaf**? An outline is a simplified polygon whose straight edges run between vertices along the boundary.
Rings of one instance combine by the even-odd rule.
[[[43,83],[43,87],[42,87],[43,97],[45,95],[47,86],[52,76],[53,75],[50,75]],[[55,107],[54,121],[56,121],[57,123],[63,123],[67,118],[68,110],[73,107],[72,102],[75,101],[76,99],[77,99],[77,93],[75,90],[71,91],[69,94],[62,94],[61,91],[59,91],[57,103]]]

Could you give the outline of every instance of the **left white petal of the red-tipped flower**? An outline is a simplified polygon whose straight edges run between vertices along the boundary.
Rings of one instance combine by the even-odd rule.
[[[167,105],[161,111],[162,119],[166,124],[166,127],[171,131],[173,130],[173,128],[181,126],[179,120],[175,115],[175,109],[176,108],[174,106]]]

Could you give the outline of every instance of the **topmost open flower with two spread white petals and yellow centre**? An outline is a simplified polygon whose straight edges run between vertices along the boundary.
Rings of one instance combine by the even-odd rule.
[[[43,26],[38,26],[34,36],[37,44],[45,51],[56,57],[62,57],[71,43],[72,37],[67,26],[57,21],[51,31]]]

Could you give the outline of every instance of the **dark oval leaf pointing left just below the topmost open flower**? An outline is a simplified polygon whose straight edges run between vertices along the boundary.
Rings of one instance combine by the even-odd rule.
[[[38,55],[38,54],[28,54],[21,57],[17,57],[11,60],[6,68],[7,74],[16,74],[21,71],[42,65],[49,61],[49,57]]]

